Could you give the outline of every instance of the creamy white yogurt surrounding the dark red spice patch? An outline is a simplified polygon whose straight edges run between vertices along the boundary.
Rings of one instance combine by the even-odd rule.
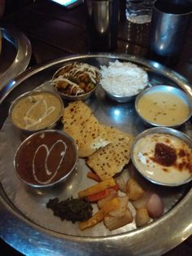
[[[156,143],[164,143],[174,148],[177,154],[177,161],[172,166],[162,166],[151,158],[155,157]],[[184,150],[188,153],[188,157],[181,157],[180,152]],[[157,183],[177,184],[182,183],[186,179],[190,179],[191,172],[188,168],[180,170],[179,164],[188,162],[192,165],[192,149],[181,139],[177,139],[172,135],[153,134],[146,135],[139,139],[133,148],[133,157],[137,170],[139,170],[147,179],[151,179]]]

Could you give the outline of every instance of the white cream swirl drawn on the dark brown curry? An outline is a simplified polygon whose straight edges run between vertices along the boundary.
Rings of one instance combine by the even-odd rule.
[[[47,166],[47,161],[48,161],[48,158],[51,156],[51,151],[55,148],[55,146],[58,144],[58,143],[62,143],[63,144],[63,151],[61,152],[60,154],[60,160],[58,162],[58,166],[57,168],[55,169],[55,172],[52,172],[49,170],[49,167]],[[44,166],[45,166],[45,170],[46,170],[46,175],[47,176],[50,176],[49,179],[47,179],[46,181],[41,181],[40,179],[37,178],[37,174],[36,174],[36,168],[35,168],[35,159],[37,157],[37,154],[39,152],[39,150],[41,148],[45,148],[46,150],[46,159],[45,159],[45,162],[44,162]],[[40,183],[40,184],[49,184],[54,178],[55,178],[55,175],[58,173],[59,171],[59,168],[61,166],[61,163],[63,161],[63,158],[65,157],[65,153],[67,151],[67,148],[68,146],[66,145],[66,143],[63,142],[63,140],[59,139],[57,140],[53,145],[52,147],[49,149],[47,147],[46,144],[41,144],[37,150],[35,151],[34,153],[34,156],[33,156],[33,178],[37,181],[37,183]]]

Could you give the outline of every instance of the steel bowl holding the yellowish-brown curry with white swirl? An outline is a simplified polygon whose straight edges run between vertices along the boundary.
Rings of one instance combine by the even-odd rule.
[[[50,97],[54,97],[57,101],[57,104],[52,104],[52,101],[51,101],[52,105],[50,105],[50,107],[49,107],[50,109],[47,108],[46,99],[43,99],[43,100],[38,99],[37,100],[35,98],[35,97],[41,97],[42,94],[46,94],[46,95],[49,95]],[[30,111],[29,108],[28,109],[24,108],[24,118],[26,117],[28,120],[29,120],[29,118],[33,119],[33,121],[37,122],[37,126],[30,126],[30,124],[28,125],[28,121],[25,122],[26,126],[22,126],[21,123],[19,121],[16,121],[16,119],[13,117],[14,109],[17,106],[17,104],[20,104],[21,100],[24,100],[24,99],[33,100],[33,98],[34,98],[34,104],[32,105],[33,107],[35,107],[35,105],[37,106],[37,104],[39,104],[42,106],[42,108],[46,109],[45,113],[46,113],[47,117],[49,117],[50,111],[52,113],[54,113],[55,117],[50,118],[50,120],[47,120],[46,123],[43,124],[43,123],[41,123],[41,121],[45,121],[45,119],[44,119],[45,115],[42,115],[42,116],[40,115],[39,119],[35,120],[35,119],[33,119],[35,117],[29,115],[29,111]],[[55,108],[55,109],[52,111],[53,108]],[[63,114],[63,100],[59,97],[59,95],[57,95],[54,92],[51,92],[50,90],[28,91],[28,92],[24,93],[23,95],[20,95],[18,98],[16,98],[14,100],[14,102],[11,104],[11,107],[9,108],[9,118],[11,120],[11,123],[18,129],[23,130],[24,132],[26,132],[28,134],[37,132],[38,130],[54,128],[57,125],[60,118],[62,117],[62,114]],[[20,115],[20,113],[16,113],[16,116],[17,116],[16,118],[19,118],[21,115]],[[24,121],[24,120],[21,120],[21,121]]]

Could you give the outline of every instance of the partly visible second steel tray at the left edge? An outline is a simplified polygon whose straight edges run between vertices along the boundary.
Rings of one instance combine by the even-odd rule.
[[[2,52],[0,55],[0,93],[4,86],[11,86],[11,79],[22,73],[31,59],[31,43],[18,29],[13,27],[1,28]]]

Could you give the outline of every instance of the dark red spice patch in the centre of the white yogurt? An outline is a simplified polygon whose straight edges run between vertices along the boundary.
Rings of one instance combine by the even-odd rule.
[[[174,148],[171,148],[164,143],[156,143],[155,157],[153,157],[152,160],[162,166],[172,166],[177,160],[177,154]]]

